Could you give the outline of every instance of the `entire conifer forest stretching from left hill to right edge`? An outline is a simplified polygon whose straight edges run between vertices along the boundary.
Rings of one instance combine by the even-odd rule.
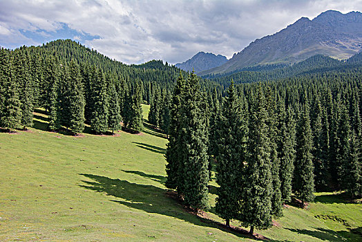
[[[304,207],[316,191],[361,197],[361,55],[202,79],[162,61],[128,66],[70,40],[1,49],[0,127],[31,127],[41,107],[50,131],[139,133],[150,104],[149,122],[169,138],[166,187],[207,210],[216,167],[217,214],[253,234],[292,198]]]

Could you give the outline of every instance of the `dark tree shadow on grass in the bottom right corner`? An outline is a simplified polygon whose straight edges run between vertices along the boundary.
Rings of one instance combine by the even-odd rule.
[[[314,227],[315,230],[298,230],[292,228],[286,228],[286,229],[292,232],[296,232],[298,234],[306,234],[316,239],[321,239],[322,241],[346,241],[346,239],[350,237],[350,235],[352,235],[352,232],[347,232],[347,231],[336,232],[333,230],[324,229],[322,227]],[[359,235],[357,234],[356,236]],[[362,239],[362,237],[360,238]],[[356,241],[359,241],[359,239],[356,238]]]

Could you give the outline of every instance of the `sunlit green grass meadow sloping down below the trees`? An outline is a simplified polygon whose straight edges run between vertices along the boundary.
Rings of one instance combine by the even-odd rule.
[[[162,133],[73,137],[45,131],[44,118],[37,113],[28,132],[0,133],[0,241],[250,240],[214,223],[222,220],[212,208],[198,218],[169,196]],[[348,230],[361,231],[361,205],[316,195],[307,210],[285,208],[277,226],[256,232],[274,241],[361,241]]]

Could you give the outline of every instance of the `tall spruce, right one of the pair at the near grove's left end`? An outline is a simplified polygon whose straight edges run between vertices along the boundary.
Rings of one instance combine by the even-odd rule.
[[[187,79],[180,109],[181,151],[184,155],[181,194],[184,203],[195,210],[208,207],[209,157],[207,155],[207,119],[202,106],[204,98],[200,92],[198,77],[191,73]]]

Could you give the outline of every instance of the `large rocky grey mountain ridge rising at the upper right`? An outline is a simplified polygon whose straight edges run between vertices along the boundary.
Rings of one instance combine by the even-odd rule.
[[[256,39],[227,63],[200,75],[263,64],[294,64],[314,55],[347,59],[361,49],[362,13],[328,10],[312,20],[302,17],[274,35]]]

